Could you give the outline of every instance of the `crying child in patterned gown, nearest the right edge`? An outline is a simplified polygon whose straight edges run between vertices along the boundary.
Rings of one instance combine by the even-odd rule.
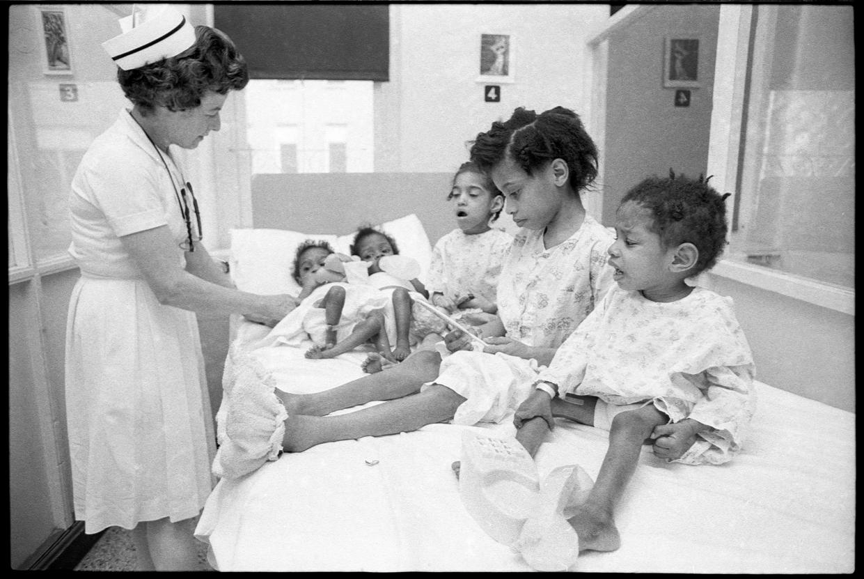
[[[746,437],[755,409],[753,356],[732,300],[685,283],[722,251],[724,199],[707,181],[674,175],[649,178],[625,195],[608,251],[617,285],[516,410],[517,440],[530,455],[554,417],[609,431],[588,498],[562,513],[578,550],[618,549],[613,511],[644,442],[653,439],[654,454],[670,461],[721,464]],[[516,546],[524,551],[549,540],[542,525],[523,534]]]

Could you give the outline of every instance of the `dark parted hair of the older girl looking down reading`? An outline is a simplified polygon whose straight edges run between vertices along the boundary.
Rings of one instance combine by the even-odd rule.
[[[539,115],[519,107],[511,118],[492,123],[471,145],[471,160],[484,172],[510,155],[525,173],[554,159],[567,163],[575,192],[597,177],[597,147],[574,111],[556,106]]]

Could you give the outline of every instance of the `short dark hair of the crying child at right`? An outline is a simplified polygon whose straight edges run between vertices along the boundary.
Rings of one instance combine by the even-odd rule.
[[[726,198],[708,185],[708,179],[699,176],[689,179],[675,175],[648,177],[630,189],[621,200],[638,203],[651,212],[653,220],[648,226],[658,233],[664,247],[683,243],[696,245],[699,258],[692,275],[710,270],[717,263],[726,245]]]

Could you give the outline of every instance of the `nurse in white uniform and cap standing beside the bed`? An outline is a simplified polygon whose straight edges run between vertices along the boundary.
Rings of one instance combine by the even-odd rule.
[[[296,302],[236,290],[201,243],[194,186],[171,145],[219,130],[249,81],[219,30],[150,4],[103,47],[132,103],[86,151],[70,195],[79,265],[67,323],[75,519],[132,529],[140,569],[194,569],[212,488],[212,414],[195,312],[275,325]]]

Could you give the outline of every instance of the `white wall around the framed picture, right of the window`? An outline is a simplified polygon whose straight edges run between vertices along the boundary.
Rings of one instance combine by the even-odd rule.
[[[586,42],[609,17],[607,4],[394,4],[390,82],[375,94],[375,170],[449,172],[466,142],[517,106],[563,105],[582,113]],[[480,34],[510,34],[512,84],[486,103]]]

